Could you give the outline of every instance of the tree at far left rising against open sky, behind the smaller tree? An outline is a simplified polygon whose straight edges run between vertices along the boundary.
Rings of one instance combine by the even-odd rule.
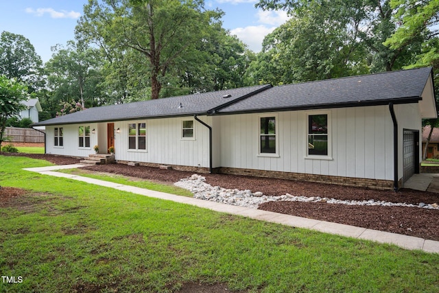
[[[3,31],[0,36],[0,75],[16,78],[33,92],[43,87],[43,61],[30,41],[20,34]]]

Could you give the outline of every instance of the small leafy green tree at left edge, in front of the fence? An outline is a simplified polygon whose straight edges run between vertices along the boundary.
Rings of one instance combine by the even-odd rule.
[[[21,102],[27,98],[27,86],[5,75],[0,75],[0,149],[6,121],[25,108]]]

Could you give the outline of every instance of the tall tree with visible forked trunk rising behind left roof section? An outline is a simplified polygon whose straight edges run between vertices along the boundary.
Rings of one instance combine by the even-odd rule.
[[[158,99],[176,60],[194,53],[217,15],[203,11],[203,5],[202,0],[89,0],[77,34],[103,40],[110,48],[138,51],[147,60],[151,98]]]

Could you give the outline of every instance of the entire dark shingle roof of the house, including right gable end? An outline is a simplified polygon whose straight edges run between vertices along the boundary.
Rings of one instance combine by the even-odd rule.
[[[270,111],[418,103],[421,117],[436,118],[431,67],[390,71],[300,84],[248,86],[88,108],[34,126],[121,121],[189,115],[226,115]]]

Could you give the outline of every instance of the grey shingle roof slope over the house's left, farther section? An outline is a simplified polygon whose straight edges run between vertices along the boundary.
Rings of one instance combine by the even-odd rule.
[[[272,87],[270,84],[239,89],[211,91],[128,104],[100,106],[41,121],[34,126],[76,124],[84,122],[119,121],[128,119],[178,117],[207,114],[207,111]],[[230,95],[230,97],[224,97]],[[180,107],[180,104],[182,107]]]

